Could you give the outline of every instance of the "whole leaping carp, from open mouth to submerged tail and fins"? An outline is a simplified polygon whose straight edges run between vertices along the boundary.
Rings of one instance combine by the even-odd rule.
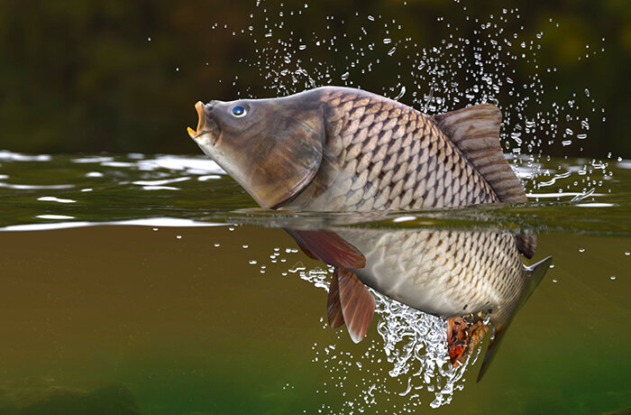
[[[189,136],[261,208],[385,212],[526,202],[491,104],[425,115],[361,89],[323,87],[195,107]],[[308,256],[334,266],[329,323],[345,324],[355,342],[375,309],[367,286],[448,318],[454,365],[484,336],[488,314],[493,338],[479,379],[552,261],[523,263],[536,249],[528,233],[286,230]]]

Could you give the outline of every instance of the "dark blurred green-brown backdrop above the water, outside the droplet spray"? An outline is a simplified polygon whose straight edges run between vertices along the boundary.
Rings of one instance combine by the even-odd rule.
[[[211,98],[233,99],[237,92],[270,96],[258,70],[240,62],[255,59],[257,45],[239,31],[251,24],[252,12],[274,9],[279,2],[256,0],[196,1],[23,1],[0,2],[0,149],[15,152],[197,152],[187,142],[187,124],[195,126],[193,104]],[[285,9],[305,3],[284,2]],[[361,14],[396,19],[403,34],[418,47],[432,46],[444,38],[448,16],[462,5],[451,0],[309,1],[309,19],[288,23],[283,30],[308,40],[326,15],[347,24],[332,25],[343,37],[357,31]],[[479,27],[475,17],[488,18],[504,7],[519,7],[525,31],[536,33],[550,25],[541,51],[542,67],[558,68],[549,75],[544,101],[562,102],[568,90],[590,88],[595,106],[606,109],[605,123],[590,125],[590,139],[580,152],[577,146],[557,145],[546,152],[574,156],[631,156],[626,137],[631,112],[631,2],[628,0],[505,0],[470,2],[471,19],[459,23],[461,34]],[[483,22],[484,20],[482,20]],[[232,30],[212,30],[213,23]],[[256,22],[262,30],[264,22]],[[312,24],[310,27],[309,24]],[[511,30],[507,23],[507,32]],[[233,36],[232,31],[237,31]],[[513,30],[516,30],[513,28]],[[247,32],[246,32],[247,33]],[[261,32],[262,34],[262,32]],[[472,35],[471,35],[472,36]],[[151,37],[151,41],[149,38]],[[605,42],[601,39],[605,38]],[[605,51],[587,60],[585,45]],[[310,50],[309,69],[320,60],[335,68],[347,65],[345,51]],[[526,72],[516,82],[525,82]],[[523,78],[519,78],[519,76]],[[233,78],[238,82],[233,85]],[[386,66],[376,66],[361,88],[379,90],[378,82],[393,78]],[[339,78],[336,78],[339,79]],[[220,80],[222,82],[220,82]],[[396,79],[389,82],[395,85]],[[405,78],[402,79],[405,85]],[[246,94],[246,95],[247,95]],[[402,101],[411,99],[407,94]],[[410,103],[407,101],[407,103]],[[462,103],[462,106],[465,103]],[[587,112],[588,108],[582,108]],[[590,111],[591,112],[591,111]],[[600,116],[598,116],[599,119]]]

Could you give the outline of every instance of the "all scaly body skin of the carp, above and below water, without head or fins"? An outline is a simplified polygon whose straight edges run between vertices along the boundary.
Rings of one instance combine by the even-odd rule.
[[[318,88],[324,160],[283,208],[314,211],[449,208],[499,202],[434,119],[349,88]],[[494,232],[338,231],[366,256],[362,282],[415,309],[508,318],[526,281],[516,236]]]

